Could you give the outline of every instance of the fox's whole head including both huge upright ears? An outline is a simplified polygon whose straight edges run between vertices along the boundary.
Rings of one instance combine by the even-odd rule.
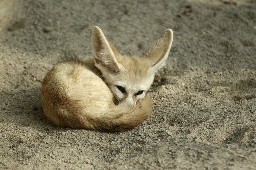
[[[94,65],[102,72],[104,82],[115,96],[116,103],[128,106],[145,97],[155,72],[164,66],[172,46],[172,29],[166,29],[142,55],[121,55],[95,26],[92,30]]]

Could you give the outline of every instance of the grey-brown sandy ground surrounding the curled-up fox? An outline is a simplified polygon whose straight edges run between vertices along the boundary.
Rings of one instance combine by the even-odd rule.
[[[0,37],[0,169],[256,169],[255,0],[26,0],[15,11]],[[40,104],[54,64],[92,55],[94,25],[130,55],[174,31],[152,115],[124,133],[55,127]]]

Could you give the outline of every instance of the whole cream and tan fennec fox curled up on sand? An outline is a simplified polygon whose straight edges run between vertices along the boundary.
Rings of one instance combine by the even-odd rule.
[[[173,33],[166,29],[140,57],[121,55],[101,29],[92,30],[93,59],[56,64],[42,81],[42,106],[58,126],[125,131],[148,118],[146,91],[164,65]]]

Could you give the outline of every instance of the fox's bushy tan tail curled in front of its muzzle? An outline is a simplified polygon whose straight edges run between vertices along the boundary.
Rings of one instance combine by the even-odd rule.
[[[125,104],[114,106],[100,117],[87,118],[93,122],[95,129],[103,131],[126,131],[140,125],[152,111],[152,100],[145,97],[139,100],[134,107]]]

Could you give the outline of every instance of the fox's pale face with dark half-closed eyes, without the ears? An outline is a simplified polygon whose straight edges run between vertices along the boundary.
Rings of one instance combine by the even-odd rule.
[[[133,106],[146,95],[154,74],[150,72],[148,61],[139,57],[119,56],[117,61],[120,64],[118,72],[104,72],[102,76],[117,103],[125,102]]]

